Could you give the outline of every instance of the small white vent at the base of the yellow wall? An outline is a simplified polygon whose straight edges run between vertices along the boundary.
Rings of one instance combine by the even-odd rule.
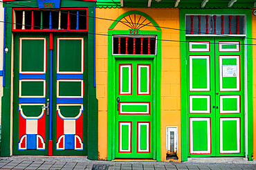
[[[173,157],[178,152],[178,127],[167,126],[166,128],[166,150],[167,157]]]

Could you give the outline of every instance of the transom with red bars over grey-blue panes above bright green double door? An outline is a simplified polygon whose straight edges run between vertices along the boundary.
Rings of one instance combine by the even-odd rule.
[[[246,35],[245,15],[186,15],[186,35]]]

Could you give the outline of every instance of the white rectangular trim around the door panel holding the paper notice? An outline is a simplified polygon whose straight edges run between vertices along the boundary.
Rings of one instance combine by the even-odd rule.
[[[223,88],[222,87],[222,59],[237,59],[237,88]],[[240,56],[239,55],[219,55],[219,91],[240,91]]]

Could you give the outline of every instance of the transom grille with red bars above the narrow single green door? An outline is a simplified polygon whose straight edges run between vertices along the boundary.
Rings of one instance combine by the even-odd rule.
[[[113,37],[113,55],[156,55],[156,36]]]

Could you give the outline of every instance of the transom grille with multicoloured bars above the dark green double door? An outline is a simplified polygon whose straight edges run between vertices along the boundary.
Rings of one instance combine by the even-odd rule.
[[[14,9],[12,31],[87,32],[87,9]]]

